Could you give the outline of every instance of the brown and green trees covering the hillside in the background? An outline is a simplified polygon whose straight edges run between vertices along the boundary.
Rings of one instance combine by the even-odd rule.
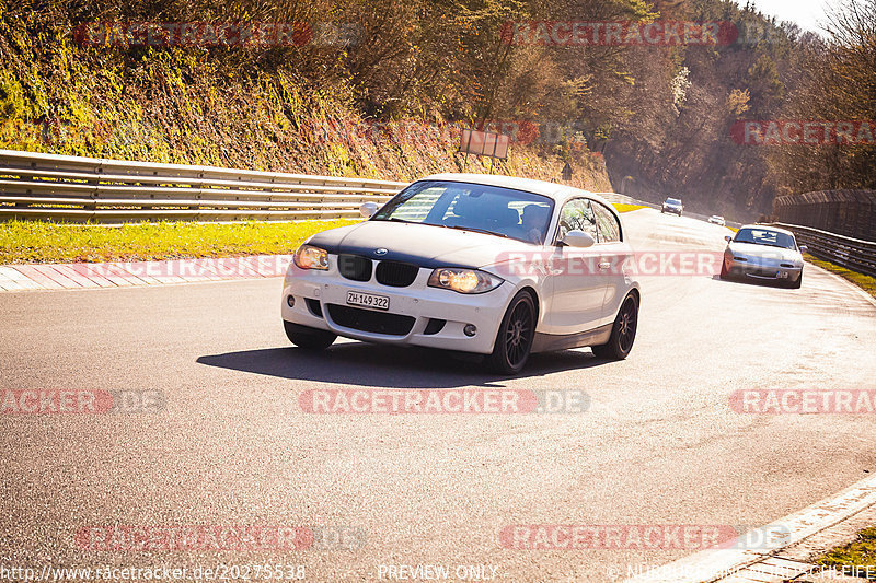
[[[37,55],[95,21],[303,24],[310,36],[295,43],[114,46],[89,58],[137,78],[161,51],[188,53],[184,62],[204,63],[217,85],[292,77],[304,95],[338,95],[379,120],[570,127],[619,180],[694,207],[754,214],[776,193],[876,180],[872,143],[754,147],[730,135],[751,119],[875,119],[876,0],[848,0],[823,38],[730,0],[22,0],[5,10]],[[737,36],[637,46],[545,33],[556,22],[667,21],[719,22]],[[543,141],[563,150],[566,138]]]

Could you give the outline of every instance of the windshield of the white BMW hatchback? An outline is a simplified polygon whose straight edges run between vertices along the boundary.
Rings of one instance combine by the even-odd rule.
[[[424,180],[390,200],[372,221],[403,221],[476,231],[541,245],[552,199],[483,184]]]

